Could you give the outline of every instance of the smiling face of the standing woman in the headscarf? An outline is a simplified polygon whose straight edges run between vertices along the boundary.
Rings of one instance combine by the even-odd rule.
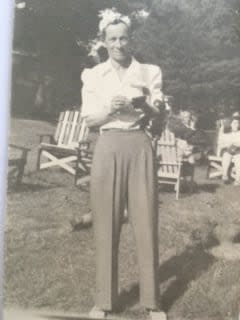
[[[109,25],[105,30],[104,42],[112,60],[124,62],[130,57],[129,30],[124,23]]]

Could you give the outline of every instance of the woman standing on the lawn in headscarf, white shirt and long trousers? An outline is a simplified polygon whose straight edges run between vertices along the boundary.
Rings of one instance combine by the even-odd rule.
[[[148,112],[158,114],[162,74],[159,67],[140,64],[132,57],[128,17],[107,9],[101,18],[99,31],[109,60],[82,74],[82,115],[89,127],[101,131],[91,177],[96,305],[90,316],[104,317],[117,306],[118,248],[126,206],[137,243],[141,304],[152,319],[166,319],[159,309],[155,160],[151,141],[141,126],[141,106],[132,103],[144,96]]]

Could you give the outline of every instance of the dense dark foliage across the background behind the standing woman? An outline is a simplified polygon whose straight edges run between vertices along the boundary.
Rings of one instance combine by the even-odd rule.
[[[55,110],[80,103],[85,44],[96,36],[97,12],[112,6],[124,13],[150,11],[134,31],[133,51],[162,67],[164,92],[177,105],[192,105],[210,122],[219,110],[240,107],[235,0],[26,0],[24,10],[16,9],[14,47],[38,54],[38,79],[54,78]]]

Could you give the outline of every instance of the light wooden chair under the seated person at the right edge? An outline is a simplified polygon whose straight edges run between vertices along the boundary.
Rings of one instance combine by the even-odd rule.
[[[207,177],[209,179],[221,178],[223,175],[221,151],[222,143],[225,139],[227,139],[227,134],[224,133],[224,121],[221,120],[219,121],[217,128],[215,154],[210,154],[208,156]],[[236,173],[234,168],[234,160],[232,160],[229,175],[235,179]]]

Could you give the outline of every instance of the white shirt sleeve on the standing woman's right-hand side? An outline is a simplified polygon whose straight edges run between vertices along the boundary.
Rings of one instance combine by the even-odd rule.
[[[164,96],[162,93],[162,71],[158,66],[151,66],[149,75],[149,89],[151,93],[151,105],[153,105],[156,100],[163,101]]]

